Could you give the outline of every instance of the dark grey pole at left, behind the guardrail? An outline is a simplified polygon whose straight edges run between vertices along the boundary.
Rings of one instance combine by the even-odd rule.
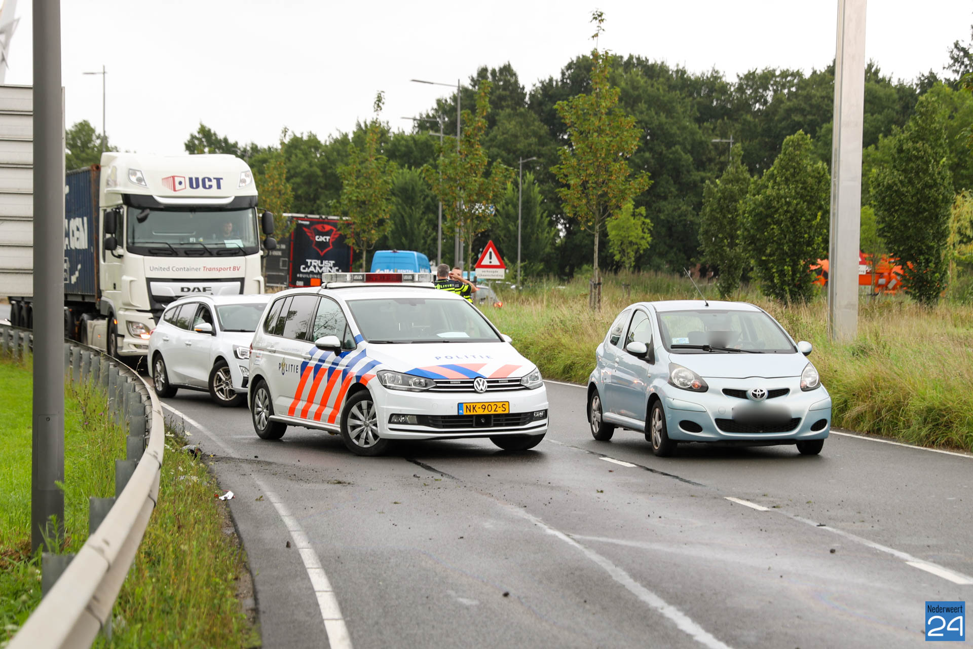
[[[30,547],[63,536],[64,118],[60,0],[34,7],[34,399]],[[54,517],[54,528],[49,519]],[[54,552],[55,548],[48,548]]]

